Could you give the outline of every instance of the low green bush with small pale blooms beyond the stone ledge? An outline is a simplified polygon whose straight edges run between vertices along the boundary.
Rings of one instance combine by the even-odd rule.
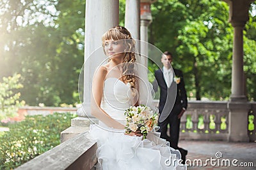
[[[0,169],[13,169],[60,144],[60,132],[70,127],[70,113],[28,116],[10,124],[0,136]]]

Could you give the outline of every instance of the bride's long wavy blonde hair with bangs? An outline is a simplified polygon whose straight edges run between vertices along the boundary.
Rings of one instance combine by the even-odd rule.
[[[124,43],[124,63],[122,66],[122,80],[131,84],[131,88],[135,87],[136,78],[134,76],[134,62],[135,62],[135,41],[132,39],[131,33],[120,25],[109,29],[102,36],[102,46],[106,40],[123,40]],[[106,52],[104,50],[106,55]]]

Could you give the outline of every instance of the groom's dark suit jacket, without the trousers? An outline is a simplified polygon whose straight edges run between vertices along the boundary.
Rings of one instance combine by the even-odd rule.
[[[188,106],[188,99],[186,94],[186,89],[184,85],[184,79],[182,71],[179,69],[173,69],[174,76],[180,78],[180,82],[176,83],[175,81],[172,82],[171,86],[168,88],[166,82],[164,80],[163,70],[158,69],[155,72],[156,81],[160,87],[160,98],[159,98],[159,113],[168,112],[170,113],[174,108],[175,110],[181,111],[182,108],[187,108]],[[154,90],[157,91],[156,83],[153,83]],[[174,104],[174,106],[173,106]],[[173,112],[172,111],[172,112]],[[179,113],[172,113],[172,114],[179,114]]]

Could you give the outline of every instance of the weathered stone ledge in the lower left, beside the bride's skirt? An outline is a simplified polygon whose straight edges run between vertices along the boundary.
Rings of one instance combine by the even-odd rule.
[[[94,169],[97,163],[96,150],[96,141],[90,139],[88,132],[83,132],[16,169]]]

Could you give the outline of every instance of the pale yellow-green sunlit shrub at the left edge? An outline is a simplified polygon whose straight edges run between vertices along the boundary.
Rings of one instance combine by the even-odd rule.
[[[3,82],[0,82],[0,120],[14,117],[19,106],[25,104],[24,101],[19,101],[20,92],[15,92],[23,87],[19,81],[20,74],[14,74],[12,77],[3,77]]]

